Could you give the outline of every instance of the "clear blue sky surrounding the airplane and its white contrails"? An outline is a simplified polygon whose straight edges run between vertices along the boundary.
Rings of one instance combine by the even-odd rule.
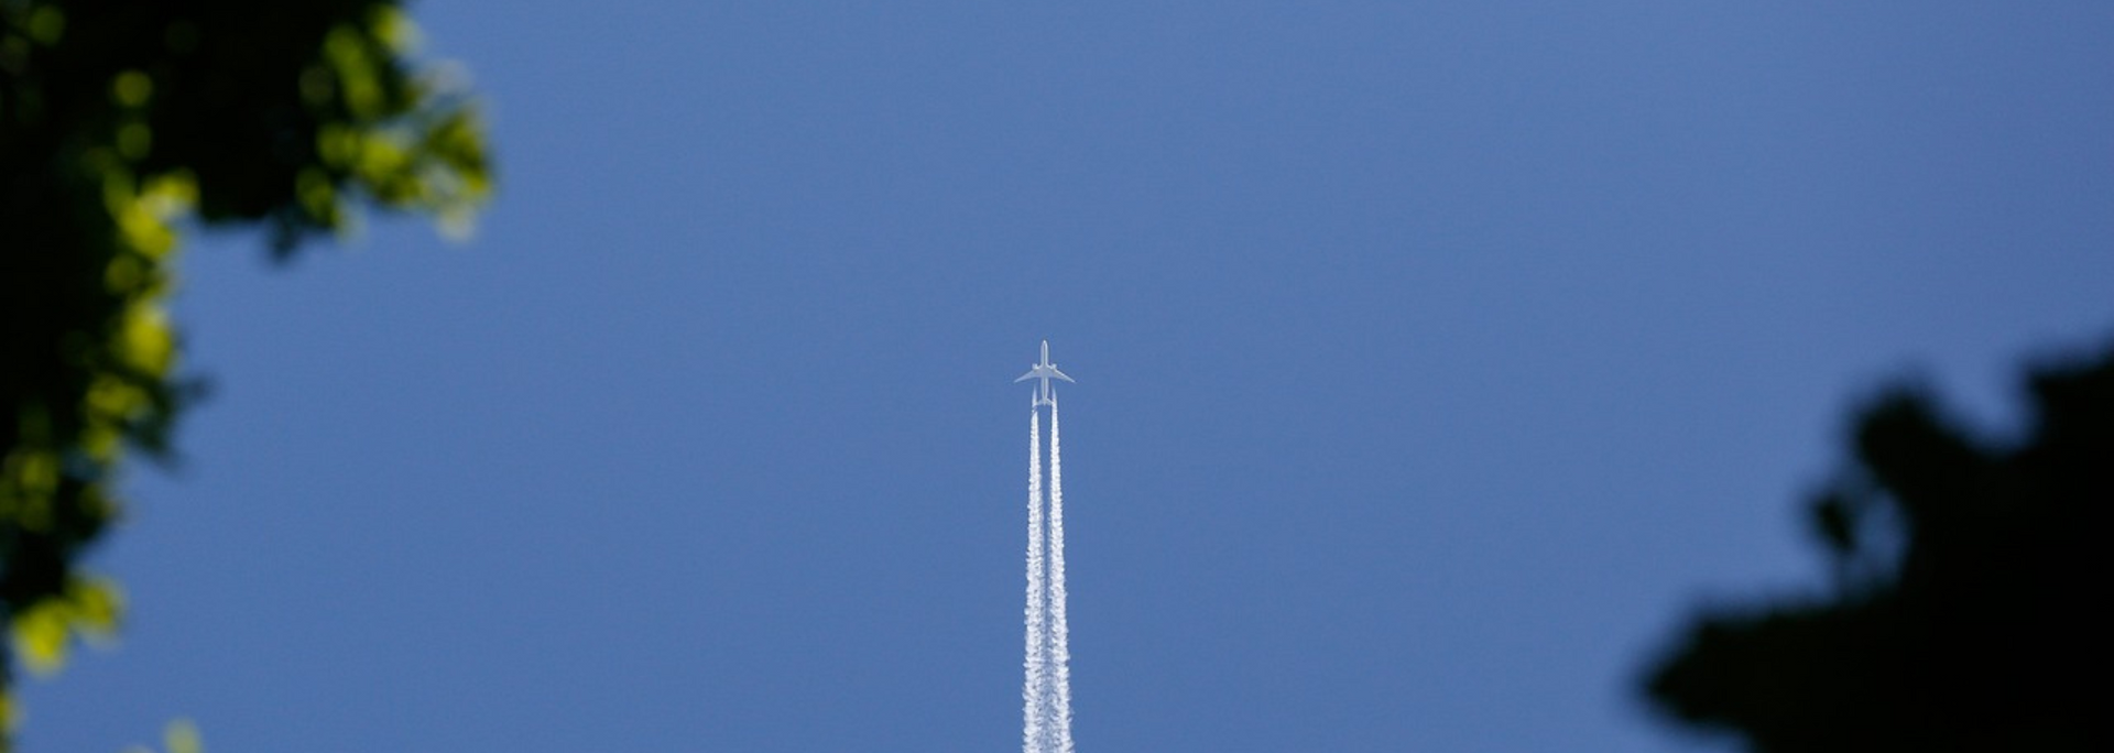
[[[188,247],[120,645],[25,751],[1679,751],[1896,376],[2114,336],[2106,2],[425,2],[465,245]]]

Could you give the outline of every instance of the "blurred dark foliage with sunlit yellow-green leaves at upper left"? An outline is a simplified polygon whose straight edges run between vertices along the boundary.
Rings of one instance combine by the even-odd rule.
[[[127,451],[169,459],[197,393],[163,313],[182,228],[260,226],[277,258],[364,205],[467,231],[484,129],[414,40],[395,0],[0,0],[6,717],[17,658],[51,671],[118,622],[76,563],[120,512]]]

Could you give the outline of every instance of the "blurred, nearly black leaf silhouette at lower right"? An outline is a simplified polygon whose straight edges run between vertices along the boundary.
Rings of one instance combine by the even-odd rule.
[[[1755,751],[2114,751],[2114,351],[2027,381],[2015,444],[1915,389],[1862,410],[1812,501],[1829,599],[1700,616],[1647,692]]]

